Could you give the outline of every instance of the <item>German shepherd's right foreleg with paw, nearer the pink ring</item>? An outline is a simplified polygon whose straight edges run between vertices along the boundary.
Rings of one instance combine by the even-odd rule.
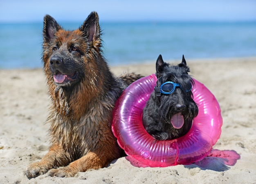
[[[66,167],[51,169],[49,175],[57,177],[74,177],[78,172],[85,172],[90,168],[98,169],[107,166],[108,161],[109,158],[103,157],[103,155],[100,157],[96,153],[89,152],[78,160],[71,162]]]

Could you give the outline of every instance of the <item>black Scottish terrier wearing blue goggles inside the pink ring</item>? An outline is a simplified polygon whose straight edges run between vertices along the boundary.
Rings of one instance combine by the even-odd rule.
[[[198,106],[191,92],[194,84],[184,55],[177,66],[169,66],[159,55],[156,62],[157,86],[143,109],[146,131],[157,140],[176,139],[191,129]]]

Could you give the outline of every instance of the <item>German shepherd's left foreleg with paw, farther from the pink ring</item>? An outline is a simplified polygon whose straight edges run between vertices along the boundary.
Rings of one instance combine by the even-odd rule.
[[[27,166],[25,174],[27,177],[36,177],[43,175],[51,168],[57,166],[65,166],[70,162],[69,153],[65,152],[60,146],[53,145],[49,152],[42,158],[40,162],[36,162]]]

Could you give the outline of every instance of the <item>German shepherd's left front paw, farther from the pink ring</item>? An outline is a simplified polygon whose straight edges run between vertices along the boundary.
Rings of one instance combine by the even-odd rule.
[[[36,162],[27,166],[25,174],[28,178],[37,177],[38,175],[43,175],[47,173],[47,171],[47,166],[40,164],[40,162]]]

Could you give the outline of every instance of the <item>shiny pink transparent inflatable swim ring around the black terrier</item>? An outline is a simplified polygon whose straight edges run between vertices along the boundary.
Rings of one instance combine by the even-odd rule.
[[[209,154],[220,138],[220,106],[202,83],[193,80],[192,93],[199,113],[190,131],[174,140],[155,140],[142,125],[142,110],[157,82],[155,74],[133,82],[124,90],[113,111],[112,131],[128,156],[139,164],[166,167],[191,164]]]

